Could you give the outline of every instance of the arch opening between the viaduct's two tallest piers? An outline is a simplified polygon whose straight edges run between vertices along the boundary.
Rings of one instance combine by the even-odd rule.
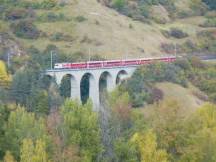
[[[85,73],[80,80],[80,98],[81,102],[85,104],[90,98],[92,101],[95,99],[96,95],[96,80],[93,74]],[[94,101],[93,101],[94,102]]]

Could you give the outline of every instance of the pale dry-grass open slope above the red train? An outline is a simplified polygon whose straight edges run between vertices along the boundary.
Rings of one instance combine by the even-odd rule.
[[[31,1],[31,0],[28,0]],[[187,0],[179,3],[179,6],[187,6]],[[198,25],[205,20],[204,17],[191,17],[179,19],[174,22],[161,25],[152,22],[145,24],[134,21],[121,15],[113,9],[107,8],[96,0],[73,1],[63,8],[54,8],[51,11],[37,10],[37,15],[54,12],[64,13],[71,21],[59,21],[54,23],[36,22],[38,28],[48,35],[61,32],[73,37],[73,41],[51,41],[49,38],[38,40],[25,40],[15,38],[24,48],[34,45],[43,50],[48,44],[55,44],[64,52],[71,54],[82,51],[84,53],[99,54],[106,58],[132,58],[165,55],[160,51],[161,43],[181,43],[186,39],[196,39],[196,32],[202,30]],[[87,20],[75,21],[76,16],[83,16]],[[129,26],[132,26],[130,28]],[[160,30],[179,27],[186,31],[190,37],[182,40],[165,38]],[[7,25],[1,27],[5,30]]]

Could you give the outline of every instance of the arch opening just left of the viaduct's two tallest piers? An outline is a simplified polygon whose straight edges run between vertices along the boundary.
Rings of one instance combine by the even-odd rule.
[[[64,83],[64,79],[67,83]],[[68,85],[63,85],[63,84],[68,84]],[[78,91],[78,83],[76,78],[72,74],[65,74],[61,78],[61,84],[60,84],[60,91],[68,92],[64,97],[70,97],[72,99],[77,98],[77,91]]]

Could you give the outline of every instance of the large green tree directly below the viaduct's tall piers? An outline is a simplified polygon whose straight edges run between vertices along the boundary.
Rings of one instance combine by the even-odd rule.
[[[61,108],[62,138],[66,146],[78,146],[82,161],[96,161],[102,151],[98,116],[92,104],[66,100]]]

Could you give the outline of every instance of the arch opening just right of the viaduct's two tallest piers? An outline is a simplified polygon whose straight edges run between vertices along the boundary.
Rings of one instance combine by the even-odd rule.
[[[107,92],[112,90],[112,86],[113,86],[112,82],[113,82],[112,75],[109,72],[105,71],[100,75],[100,78],[99,78],[100,103],[103,103],[105,101]]]

